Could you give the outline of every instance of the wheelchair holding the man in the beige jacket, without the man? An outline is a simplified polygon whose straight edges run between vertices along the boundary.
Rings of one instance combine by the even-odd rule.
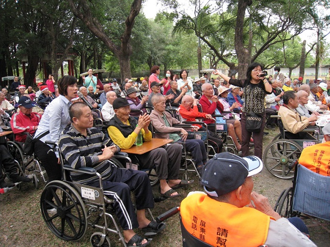
[[[289,165],[299,158],[304,147],[318,143],[321,132],[319,128],[306,128],[301,133],[313,132],[315,139],[292,139],[292,133],[284,129],[281,117],[277,117],[281,133],[265,148],[263,161],[266,169],[274,176],[291,179],[294,177],[294,170],[289,170]]]

